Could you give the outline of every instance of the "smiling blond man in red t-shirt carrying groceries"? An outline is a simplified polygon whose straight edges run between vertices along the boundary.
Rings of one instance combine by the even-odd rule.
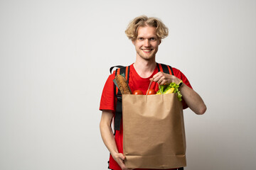
[[[132,91],[140,89],[146,94],[150,81],[151,89],[158,89],[158,84],[170,84],[183,81],[180,91],[183,97],[183,108],[191,108],[196,114],[206,112],[206,105],[202,98],[193,91],[188,79],[178,69],[173,67],[174,75],[158,72],[156,63],[156,52],[161,44],[161,39],[168,35],[168,28],[164,26],[158,18],[147,18],[139,16],[129,23],[125,31],[127,37],[132,40],[137,55],[134,64],[130,65],[129,87]],[[124,155],[122,149],[122,128],[113,135],[111,123],[114,117],[115,102],[114,96],[114,73],[107,79],[102,91],[100,110],[102,118],[100,120],[100,132],[102,140],[110,151],[110,169],[127,169],[124,165]]]

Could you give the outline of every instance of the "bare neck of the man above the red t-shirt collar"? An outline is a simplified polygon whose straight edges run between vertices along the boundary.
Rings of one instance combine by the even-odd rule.
[[[155,68],[155,60],[138,60],[137,58],[137,60],[134,62],[134,69],[142,78],[150,77],[151,74],[153,74]]]

